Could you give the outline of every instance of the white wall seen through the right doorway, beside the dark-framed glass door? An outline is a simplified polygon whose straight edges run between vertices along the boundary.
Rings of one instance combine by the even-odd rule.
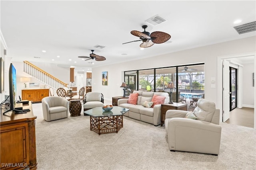
[[[254,72],[254,64],[243,64],[243,66],[243,107],[253,107],[255,92],[252,86],[252,73]]]

